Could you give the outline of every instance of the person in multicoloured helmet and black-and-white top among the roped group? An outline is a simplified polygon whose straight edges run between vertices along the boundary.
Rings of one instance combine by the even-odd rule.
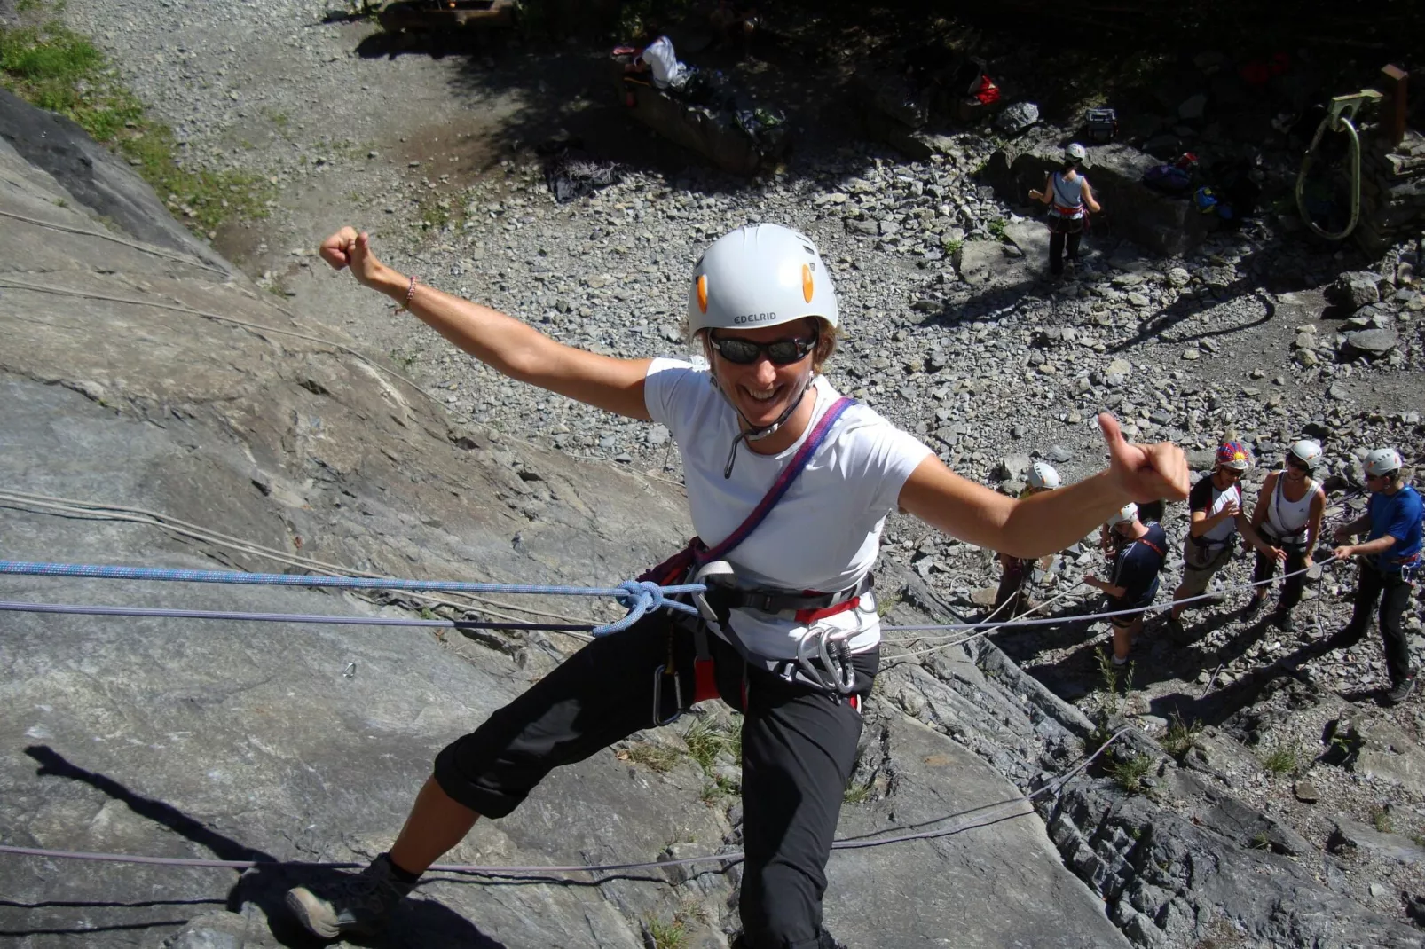
[[[1217,447],[1213,474],[1193,486],[1187,496],[1190,523],[1183,541],[1183,583],[1173,591],[1173,600],[1200,596],[1207,590],[1213,574],[1233,559],[1233,537],[1240,530],[1247,543],[1257,550],[1267,544],[1243,514],[1243,492],[1238,482],[1251,467],[1251,452],[1241,442],[1223,442]],[[1167,616],[1168,628],[1174,636],[1184,636],[1183,604],[1174,606]]]

